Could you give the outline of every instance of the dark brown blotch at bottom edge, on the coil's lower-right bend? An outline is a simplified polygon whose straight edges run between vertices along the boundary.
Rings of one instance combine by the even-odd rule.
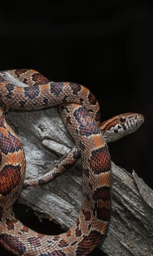
[[[78,243],[76,255],[77,256],[86,256],[89,252],[91,252],[92,248],[96,246],[101,241],[103,235],[96,230],[91,230],[91,232],[84,236],[82,241]],[[92,244],[92,245],[91,245]]]

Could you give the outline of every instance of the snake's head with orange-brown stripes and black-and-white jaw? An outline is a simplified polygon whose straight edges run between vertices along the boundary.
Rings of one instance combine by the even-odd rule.
[[[100,124],[100,130],[107,143],[135,132],[144,122],[144,116],[138,113],[124,113],[113,116]]]

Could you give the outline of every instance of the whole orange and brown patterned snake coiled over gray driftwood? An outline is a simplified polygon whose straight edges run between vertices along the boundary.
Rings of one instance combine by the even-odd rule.
[[[75,148],[49,173],[24,180],[24,149],[5,114],[58,106]],[[138,113],[115,116],[100,124],[94,95],[76,83],[54,83],[30,69],[0,72],[0,243],[14,255],[85,256],[106,233],[111,216],[112,163],[106,142],[118,140],[143,124]],[[12,207],[21,189],[43,185],[82,159],[82,205],[67,232],[47,236],[25,227]]]

